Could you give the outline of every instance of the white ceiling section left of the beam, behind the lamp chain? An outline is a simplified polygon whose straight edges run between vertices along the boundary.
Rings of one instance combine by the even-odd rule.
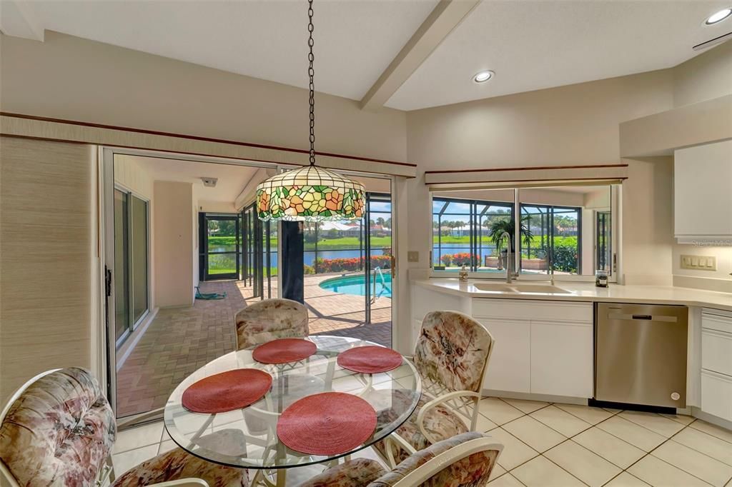
[[[315,88],[361,99],[437,0],[317,0]],[[45,29],[307,88],[305,0],[31,0]]]

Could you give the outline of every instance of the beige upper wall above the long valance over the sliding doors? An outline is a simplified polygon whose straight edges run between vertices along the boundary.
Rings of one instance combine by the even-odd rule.
[[[306,149],[307,90],[46,31],[2,36],[10,113]],[[305,76],[305,72],[303,73]],[[315,95],[318,151],[406,161],[406,114]]]

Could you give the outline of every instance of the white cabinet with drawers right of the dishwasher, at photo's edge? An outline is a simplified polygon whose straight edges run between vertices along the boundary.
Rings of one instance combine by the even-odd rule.
[[[732,421],[732,313],[701,314],[701,410]]]

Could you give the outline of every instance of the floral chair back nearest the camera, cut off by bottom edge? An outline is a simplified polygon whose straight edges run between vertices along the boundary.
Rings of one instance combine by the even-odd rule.
[[[485,486],[501,450],[486,434],[458,434],[411,454],[368,487]]]

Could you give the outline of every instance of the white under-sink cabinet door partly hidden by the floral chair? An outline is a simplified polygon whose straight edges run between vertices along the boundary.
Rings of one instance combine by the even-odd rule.
[[[477,318],[488,328],[496,343],[490,354],[483,388],[529,392],[531,366],[529,358],[529,320]]]

